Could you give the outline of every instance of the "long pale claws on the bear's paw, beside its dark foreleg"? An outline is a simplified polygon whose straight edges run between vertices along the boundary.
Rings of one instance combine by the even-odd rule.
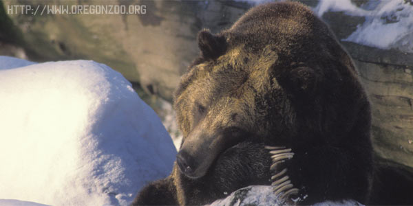
[[[273,161],[273,164],[270,167],[270,170],[275,171],[277,169],[277,165],[279,163],[283,163],[287,159],[291,159],[294,156],[294,153],[291,152],[291,149],[285,148],[285,147],[276,147],[276,146],[265,146],[267,150],[270,150],[270,155],[271,159]],[[281,199],[285,199],[290,195],[293,194],[298,194],[299,190],[297,188],[294,188],[294,185],[291,183],[289,180],[290,177],[285,175],[287,172],[287,169],[282,170],[281,172],[278,172],[277,174],[274,174],[271,176],[271,185],[274,187],[273,191],[275,196],[279,196]]]

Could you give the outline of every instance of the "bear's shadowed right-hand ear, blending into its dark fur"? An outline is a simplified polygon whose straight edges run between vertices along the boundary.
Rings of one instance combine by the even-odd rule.
[[[287,71],[288,88],[301,97],[315,95],[319,87],[320,77],[310,67],[300,66]]]

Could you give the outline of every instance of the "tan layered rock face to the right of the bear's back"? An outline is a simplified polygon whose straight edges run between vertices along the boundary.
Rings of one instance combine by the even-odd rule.
[[[374,150],[413,167],[413,54],[343,42],[372,104]]]

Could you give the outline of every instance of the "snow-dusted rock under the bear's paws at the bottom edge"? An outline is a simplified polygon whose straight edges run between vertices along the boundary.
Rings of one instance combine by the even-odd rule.
[[[241,188],[224,199],[213,202],[209,206],[253,206],[253,205],[284,205],[274,195],[273,187],[264,185],[251,185]],[[325,201],[313,206],[356,206],[357,201],[332,202]]]

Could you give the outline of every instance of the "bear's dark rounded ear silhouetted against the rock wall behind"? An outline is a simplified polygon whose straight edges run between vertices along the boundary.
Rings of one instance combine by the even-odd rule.
[[[198,34],[198,47],[200,47],[204,59],[216,59],[224,54],[226,41],[224,36],[211,34],[209,30],[202,30]]]

